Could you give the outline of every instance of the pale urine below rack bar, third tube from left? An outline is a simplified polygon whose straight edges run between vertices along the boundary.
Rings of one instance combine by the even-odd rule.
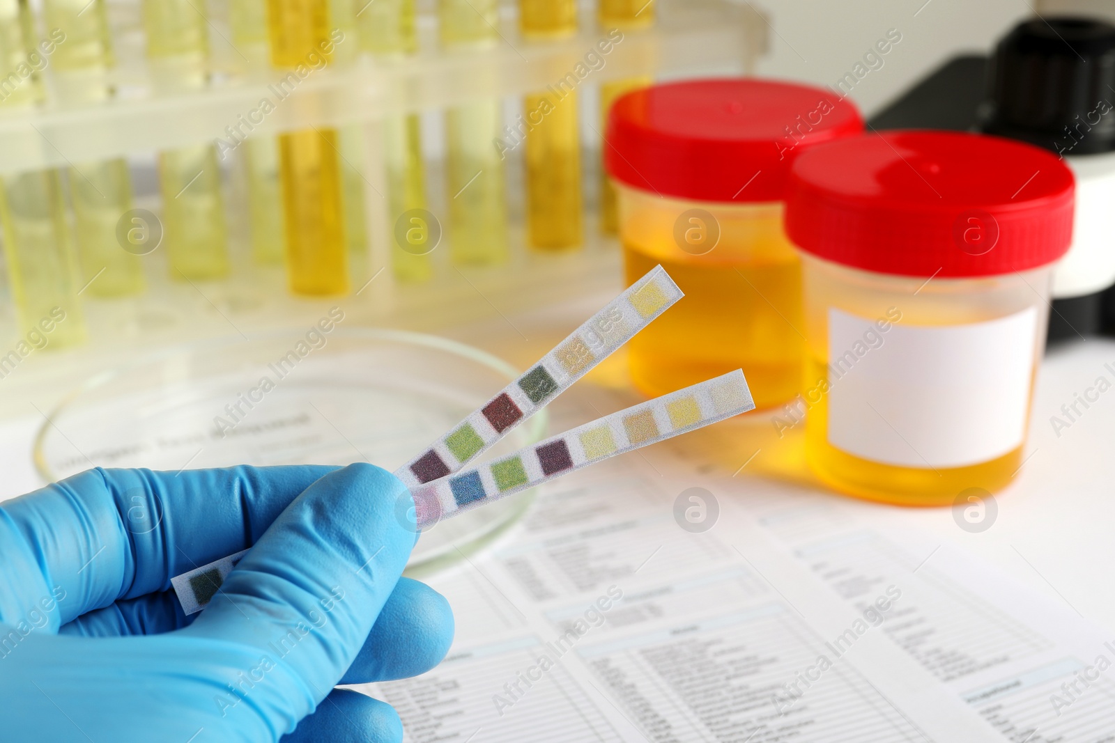
[[[159,153],[158,182],[171,276],[190,280],[226,276],[227,231],[216,147],[196,145]]]

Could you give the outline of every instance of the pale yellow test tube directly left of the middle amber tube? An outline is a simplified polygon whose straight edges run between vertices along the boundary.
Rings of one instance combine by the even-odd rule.
[[[446,50],[485,49],[500,39],[498,0],[438,0],[437,10]],[[510,255],[503,158],[493,145],[502,124],[495,98],[446,113],[449,255],[456,264],[494,265]]]

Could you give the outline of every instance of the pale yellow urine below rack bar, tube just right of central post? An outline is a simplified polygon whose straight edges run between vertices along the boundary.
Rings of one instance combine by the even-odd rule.
[[[384,157],[387,167],[387,218],[392,234],[391,271],[401,281],[426,281],[434,275],[430,255],[405,251],[394,237],[395,223],[404,212],[426,208],[421,126],[417,114],[384,119]]]

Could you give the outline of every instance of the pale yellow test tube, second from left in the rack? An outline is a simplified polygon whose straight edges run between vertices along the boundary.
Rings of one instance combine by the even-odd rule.
[[[65,41],[51,56],[55,86],[67,104],[107,100],[106,80],[113,66],[104,0],[46,0],[46,27]],[[116,234],[120,217],[132,209],[132,176],[122,158],[75,163],[68,174],[74,204],[77,248],[86,292],[127,296],[144,289],[139,256],[125,251]]]

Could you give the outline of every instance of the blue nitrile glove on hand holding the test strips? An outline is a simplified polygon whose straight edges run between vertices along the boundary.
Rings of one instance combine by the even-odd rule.
[[[0,505],[0,740],[400,740],[333,685],[423,673],[452,641],[446,600],[399,578],[404,491],[370,465],[97,469]],[[249,545],[183,616],[171,577]]]

